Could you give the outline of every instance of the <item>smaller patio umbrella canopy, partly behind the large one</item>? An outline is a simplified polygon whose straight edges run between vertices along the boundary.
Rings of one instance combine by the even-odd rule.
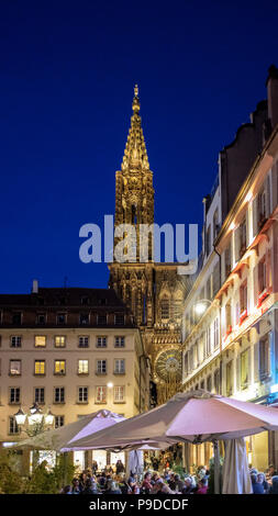
[[[124,419],[119,414],[101,410],[55,430],[46,430],[35,437],[16,442],[14,446],[36,450],[62,451],[63,449],[63,451],[68,451],[67,446],[70,447],[73,440],[92,436],[96,431],[114,426]]]

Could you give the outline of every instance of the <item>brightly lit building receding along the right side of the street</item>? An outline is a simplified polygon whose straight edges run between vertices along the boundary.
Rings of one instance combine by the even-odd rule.
[[[208,209],[203,262],[185,304],[182,377],[186,391],[201,388],[238,400],[276,404],[278,70],[275,67],[269,69],[267,88],[262,150],[245,173],[237,195],[232,192],[234,199],[227,213],[226,182],[222,182],[220,159],[219,192],[215,191],[219,202],[212,199]],[[233,169],[229,165],[225,162],[226,170]],[[224,220],[222,223],[220,218],[211,238],[208,227],[213,227],[211,220],[214,213],[220,213],[220,205]],[[260,470],[269,462],[277,465],[277,434],[249,437],[247,451],[249,462]],[[186,459],[191,464],[208,463],[210,455],[209,445],[194,450],[188,446]]]

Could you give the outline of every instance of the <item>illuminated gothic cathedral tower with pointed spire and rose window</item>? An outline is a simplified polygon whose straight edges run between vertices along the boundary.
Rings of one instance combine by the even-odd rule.
[[[180,326],[187,289],[184,277],[177,274],[177,263],[153,261],[151,235],[146,244],[147,259],[140,261],[140,224],[154,223],[154,188],[138,114],[137,86],[132,110],[122,167],[115,172],[114,225],[134,227],[135,259],[109,263],[109,283],[135,316],[151,358],[153,380],[158,386],[158,402],[163,402],[175,392],[181,379]]]

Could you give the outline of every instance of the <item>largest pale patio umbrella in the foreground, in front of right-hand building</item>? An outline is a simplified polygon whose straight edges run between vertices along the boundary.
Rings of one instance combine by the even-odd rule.
[[[215,492],[219,492],[219,440],[278,429],[278,411],[264,405],[241,402],[205,391],[178,393],[166,404],[126,419],[115,428],[74,441],[74,446],[126,447],[140,441],[214,442]],[[169,445],[170,446],[170,445]],[[226,470],[227,474],[227,470]],[[231,472],[229,471],[229,474]],[[225,481],[225,479],[224,479]]]

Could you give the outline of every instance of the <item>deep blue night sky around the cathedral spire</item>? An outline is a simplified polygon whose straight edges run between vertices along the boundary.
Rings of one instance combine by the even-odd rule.
[[[114,212],[133,87],[155,218],[202,222],[218,154],[278,65],[277,2],[2,0],[0,292],[105,287],[79,227]]]

